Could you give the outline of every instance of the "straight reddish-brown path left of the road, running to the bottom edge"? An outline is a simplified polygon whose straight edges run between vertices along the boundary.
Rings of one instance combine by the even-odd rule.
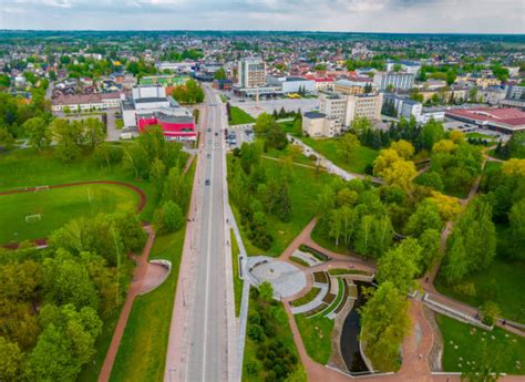
[[[113,332],[113,338],[111,339],[110,348],[104,359],[104,364],[102,365],[101,372],[99,374],[99,382],[106,382],[110,380],[111,370],[113,369],[113,363],[115,362],[116,353],[119,352],[119,347],[121,345],[122,337],[124,335],[124,330],[126,328],[127,319],[133,308],[133,301],[142,292],[142,285],[146,278],[150,257],[150,251],[153,247],[153,241],[155,239],[155,231],[151,226],[145,226],[144,230],[147,233],[147,241],[144,246],[142,255],[136,259],[136,268],[133,271],[133,281],[127,290],[126,300],[121,310],[121,316],[116,323],[115,330]]]

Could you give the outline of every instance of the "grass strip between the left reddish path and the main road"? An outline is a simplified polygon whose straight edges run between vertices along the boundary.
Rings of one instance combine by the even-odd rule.
[[[188,186],[193,184],[195,164],[187,173]],[[163,380],[185,234],[186,224],[178,231],[155,239],[150,259],[169,260],[172,272],[162,286],[134,301],[111,381]]]

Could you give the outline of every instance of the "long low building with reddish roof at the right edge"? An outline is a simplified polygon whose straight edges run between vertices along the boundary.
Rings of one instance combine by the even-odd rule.
[[[505,134],[525,131],[525,112],[518,109],[455,109],[445,111],[445,115]]]

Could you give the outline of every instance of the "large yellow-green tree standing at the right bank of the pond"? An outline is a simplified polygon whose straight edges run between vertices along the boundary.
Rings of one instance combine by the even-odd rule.
[[[374,370],[387,372],[399,368],[399,349],[410,330],[409,306],[405,296],[387,281],[360,308],[360,339]]]

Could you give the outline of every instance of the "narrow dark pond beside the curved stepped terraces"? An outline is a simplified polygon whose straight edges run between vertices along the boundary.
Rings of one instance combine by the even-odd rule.
[[[361,352],[359,351],[359,333],[361,332],[361,317],[358,313],[359,307],[364,303],[364,298],[361,293],[361,287],[371,287],[369,282],[354,281],[358,287],[358,299],[356,300],[352,310],[344,319],[341,331],[341,355],[348,370],[351,373],[368,372],[369,369],[364,363]]]

